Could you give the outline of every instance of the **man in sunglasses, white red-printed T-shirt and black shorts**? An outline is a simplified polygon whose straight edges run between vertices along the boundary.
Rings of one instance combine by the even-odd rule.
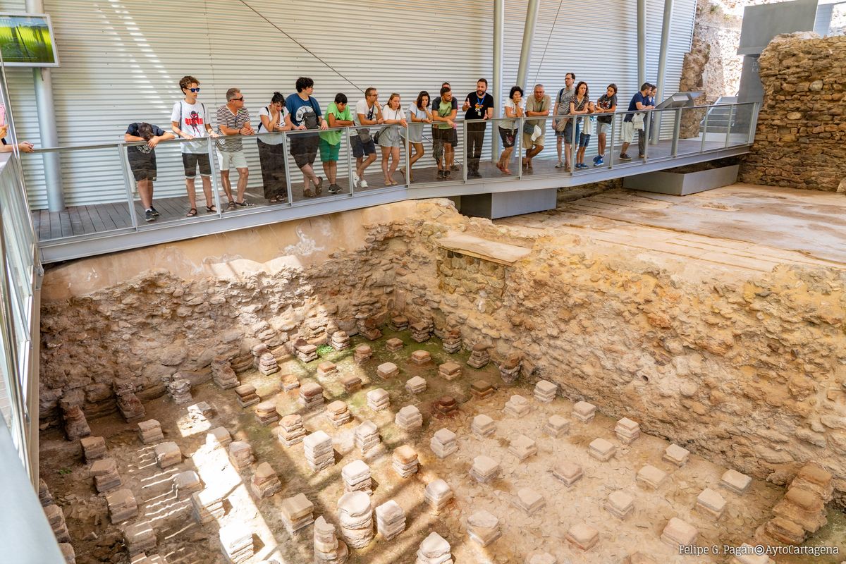
[[[206,115],[206,106],[197,101],[200,95],[200,81],[193,76],[184,76],[179,80],[179,88],[185,95],[184,100],[173,104],[170,122],[173,133],[182,139],[195,140],[202,137],[217,138],[211,129]],[[182,144],[182,164],[185,170],[185,188],[188,189],[190,210],[185,216],[197,215],[197,194],[194,178],[197,167],[200,167],[200,177],[203,183],[203,194],[206,194],[206,210],[215,213],[214,199],[211,197],[211,162],[209,162],[208,147],[203,141],[190,141]]]

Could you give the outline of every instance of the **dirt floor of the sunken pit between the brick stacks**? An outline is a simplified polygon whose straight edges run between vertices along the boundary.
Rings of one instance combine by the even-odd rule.
[[[390,337],[402,338],[406,346],[397,353],[387,352],[385,341]],[[353,348],[361,342],[365,342],[362,337],[351,339]],[[221,391],[211,382],[193,390],[195,401],[206,401],[216,408],[210,420],[190,418],[187,404],[174,405],[168,397],[145,404],[146,417],[160,421],[165,440],[176,441],[184,454],[182,464],[164,471],[155,463],[153,446],[140,444],[135,424],[124,423],[117,414],[90,421],[92,435],[106,438],[108,456],[118,461],[124,487],[131,488],[139,501],[139,516],[128,523],[150,520],[157,532],[157,552],[166,556],[170,564],[222,563],[217,530],[220,525],[233,522],[247,523],[255,531],[256,555],[250,562],[272,558],[279,564],[310,562],[313,528],[306,528],[291,538],[279,517],[280,504],[284,498],[303,492],[315,504],[315,517],[323,515],[337,525],[337,501],[343,495],[341,468],[361,458],[360,451],[354,447],[353,434],[355,426],[365,419],[378,425],[382,438],[382,446],[363,458],[371,468],[372,505],[376,507],[389,499],[397,501],[406,513],[406,530],[390,542],[377,536],[365,549],[351,550],[349,561],[353,563],[410,564],[415,561],[420,541],[432,530],[449,541],[453,557],[459,563],[519,563],[540,550],[557,556],[558,562],[618,562],[634,550],[644,550],[661,562],[722,562],[722,556],[679,556],[678,550],[660,541],[662,528],[671,517],[678,516],[699,528],[700,545],[738,545],[751,538],[783,495],[781,488],[759,480],[755,480],[744,496],[734,495],[718,486],[725,468],[695,456],[683,468],[674,468],[662,462],[668,443],[658,437],[641,435],[632,446],[625,446],[614,435],[612,419],[598,414],[591,423],[582,424],[570,417],[569,400],[537,402],[532,397],[534,382],[521,380],[504,385],[493,364],[482,370],[472,369],[464,364],[469,353],[444,353],[437,338],[418,344],[406,332],[386,331],[381,339],[369,344],[374,355],[362,365],[354,363],[350,348],[339,353],[332,351],[309,364],[288,360],[283,363],[282,372],[275,375],[265,376],[250,370],[240,376],[242,383],[256,386],[263,400],[272,398],[283,415],[303,413],[296,402],[298,391],[280,392],[279,375],[286,372],[299,375],[301,382],[319,381],[327,403],[334,399],[349,403],[353,420],[339,429],[327,422],[322,410],[303,413],[306,430],[324,430],[332,436],[335,465],[319,474],[313,474],[307,467],[302,443],[288,448],[277,442],[271,427],[256,422],[253,408],[240,408],[232,390]],[[418,366],[409,362],[409,355],[417,349],[431,353],[431,364]],[[316,378],[316,366],[325,359],[338,364],[338,374],[321,381]],[[437,375],[437,365],[449,359],[463,366],[464,375],[454,381],[445,381]],[[400,375],[382,381],[376,376],[376,366],[386,361],[398,364]],[[364,382],[363,389],[350,396],[344,394],[338,381],[340,375],[348,373],[360,375]],[[412,396],[405,391],[404,383],[415,375],[425,377],[428,388]],[[497,393],[481,401],[469,392],[470,383],[480,378],[498,387]],[[385,388],[391,397],[390,408],[380,413],[373,413],[365,401],[366,392],[376,387]],[[530,414],[519,420],[503,413],[503,405],[515,393],[529,399],[532,406]],[[450,418],[433,416],[432,402],[447,394],[460,402],[458,414]],[[410,435],[393,423],[394,413],[409,404],[418,406],[424,418],[423,428]],[[470,432],[470,421],[479,413],[486,413],[497,422],[497,431],[491,438],[481,440]],[[571,421],[569,434],[558,439],[548,437],[541,430],[547,418],[555,413]],[[272,465],[283,483],[280,492],[258,502],[250,496],[247,485],[251,472],[238,474],[228,463],[225,452],[206,446],[206,431],[219,425],[225,426],[235,440],[250,441],[256,463]],[[442,461],[432,454],[429,440],[444,427],[459,435],[459,450]],[[537,455],[524,463],[508,453],[510,439],[519,434],[529,436],[538,446]],[[612,441],[617,446],[617,456],[606,463],[588,456],[587,445],[597,437]],[[403,444],[414,446],[420,457],[419,473],[408,479],[399,479],[391,465],[390,452]],[[478,485],[470,478],[472,460],[480,454],[501,463],[502,479],[490,485]],[[551,473],[555,463],[563,459],[579,463],[584,469],[585,476],[572,487]],[[635,473],[647,463],[669,474],[667,483],[657,491],[635,484]],[[204,526],[195,523],[189,495],[177,496],[171,484],[173,475],[184,469],[195,469],[207,487],[228,492],[227,514],[221,523]],[[96,495],[78,441],[65,441],[58,430],[43,433],[41,476],[64,509],[79,564],[129,562],[119,527],[109,523],[105,499]],[[437,478],[445,479],[455,493],[454,501],[439,515],[423,501],[426,484]],[[513,505],[516,491],[524,487],[536,490],[546,500],[546,507],[532,517]],[[726,512],[719,520],[693,510],[696,496],[706,487],[718,490],[728,501]],[[634,514],[623,522],[603,508],[614,490],[634,496]],[[496,515],[503,531],[502,538],[485,549],[475,545],[466,534],[467,518],[479,509]],[[599,544],[586,553],[575,550],[564,540],[567,529],[575,523],[589,523],[599,531]],[[811,542],[831,542],[837,530],[832,526],[824,528]],[[826,559],[813,561],[823,563]]]

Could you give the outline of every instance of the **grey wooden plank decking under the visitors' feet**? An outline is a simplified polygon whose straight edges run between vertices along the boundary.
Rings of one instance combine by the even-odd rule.
[[[701,142],[700,140],[680,140],[678,143],[678,155],[686,154],[686,153],[694,153],[700,150]],[[722,143],[708,141],[706,142],[706,150],[711,149],[719,149],[722,147]],[[670,142],[669,141],[662,141],[658,145],[650,145],[648,150],[648,156],[651,158],[662,158],[666,156],[670,156]],[[636,145],[629,148],[629,153],[633,151],[637,151]],[[459,151],[456,151],[456,156],[462,156],[458,154]],[[589,155],[591,155],[589,153]],[[457,159],[459,160],[459,159]],[[460,159],[463,161],[463,159]],[[590,157],[585,159],[586,162],[590,164]],[[534,162],[534,175],[569,175],[569,172],[565,172],[563,169],[556,168],[555,165],[558,162],[558,156],[556,155],[556,147],[554,144],[549,145],[544,148],[544,151],[541,152],[539,156],[536,156]],[[422,165],[421,165],[422,163]],[[635,160],[628,164],[624,164],[622,162],[615,162],[615,167],[625,167],[626,170],[631,170],[632,173],[636,173],[639,165],[639,161]],[[434,167],[434,160],[431,158],[430,155],[424,155],[417,165],[414,168],[414,183],[436,183],[436,182],[444,182],[444,183],[456,183],[461,182],[463,178],[463,171],[459,170],[459,172],[453,172],[453,177],[448,180],[439,180],[437,178],[437,167]],[[667,167],[671,167],[672,163],[668,164]],[[513,173],[513,177],[517,177],[517,171],[519,167],[519,162],[514,159],[512,161],[512,165],[510,166],[510,170]],[[607,167],[607,162],[606,162]],[[343,168],[343,167],[341,167]],[[596,170],[591,167],[588,170],[582,170],[579,172],[575,172],[575,177],[584,176],[585,183],[592,182],[591,180],[591,171]],[[482,162],[480,171],[483,178],[503,178],[503,172],[500,172],[497,167],[493,165],[492,162]],[[376,162],[368,168],[368,172],[365,176],[369,186],[368,190],[372,189],[382,189],[385,188],[386,185],[384,183],[384,177],[382,175],[382,171],[380,168],[380,161],[377,159]],[[405,178],[401,172],[396,172],[393,176],[393,180],[398,183],[404,183]],[[342,194],[349,193],[349,178],[347,175],[338,175],[338,184],[344,187]],[[198,183],[199,184],[199,183]],[[324,186],[326,185],[326,179],[324,178]],[[301,201],[305,200],[302,194],[302,184],[298,183],[297,186],[292,186],[294,191],[294,201]],[[362,189],[356,189],[356,192],[362,192]],[[322,197],[331,196],[332,194],[327,194],[326,189],[324,189]],[[226,197],[221,192],[220,198],[222,205],[224,207],[224,213],[239,213],[239,211],[228,212],[225,210],[226,208]],[[267,200],[264,198],[264,195],[256,192],[255,189],[248,189],[246,193],[246,200],[254,203],[256,206],[263,207],[267,205],[271,205],[267,203]],[[203,194],[200,192],[197,194],[197,210],[199,211],[198,216],[194,218],[185,217],[185,214],[188,212],[189,205],[188,205],[188,197],[187,194],[181,197],[171,197],[171,198],[156,198],[155,193],[153,194],[153,206],[159,211],[161,216],[157,218],[155,222],[145,222],[144,220],[144,208],[140,204],[140,200],[135,200],[135,215],[138,217],[138,224],[140,229],[144,229],[148,226],[155,226],[159,225],[162,222],[190,222],[190,221],[198,221],[201,220],[203,216],[209,214],[206,211],[206,204]],[[285,205],[285,204],[273,204],[273,205]],[[255,209],[255,208],[253,208]],[[116,231],[120,229],[131,229],[132,228],[132,219],[129,216],[129,205],[124,202],[114,202],[114,203],[107,203],[107,204],[94,204],[94,205],[75,205],[69,206],[64,211],[57,211],[57,212],[50,212],[47,210],[36,210],[32,211],[32,219],[33,223],[36,228],[36,233],[38,233],[38,238],[40,241],[49,241],[52,239],[60,239],[60,238],[69,238],[79,235],[91,235],[96,233],[107,233],[110,231]]]

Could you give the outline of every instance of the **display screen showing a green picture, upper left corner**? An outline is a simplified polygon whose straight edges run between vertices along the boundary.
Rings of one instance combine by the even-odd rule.
[[[0,14],[3,63],[17,67],[58,67],[47,14]]]

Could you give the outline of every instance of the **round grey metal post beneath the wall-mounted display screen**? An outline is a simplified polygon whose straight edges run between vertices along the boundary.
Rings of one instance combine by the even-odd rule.
[[[44,14],[43,0],[26,0],[26,11],[30,14]],[[56,132],[56,105],[52,96],[52,76],[49,68],[33,68],[32,78],[36,85],[36,109],[38,112],[38,130],[41,134],[41,147],[58,147]],[[44,153],[44,183],[47,186],[47,209],[64,210],[62,190],[62,163],[58,151]]]

